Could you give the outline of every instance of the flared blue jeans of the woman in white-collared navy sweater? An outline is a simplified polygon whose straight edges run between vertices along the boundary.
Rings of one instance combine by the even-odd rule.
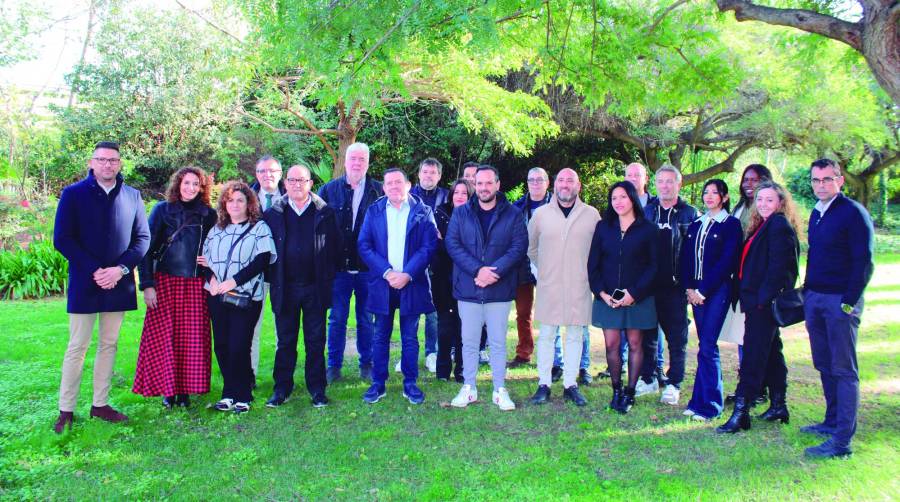
[[[688,409],[706,418],[715,418],[725,406],[722,395],[722,365],[719,360],[719,333],[728,313],[728,287],[722,286],[694,306],[694,323],[700,342],[697,352],[697,377]]]

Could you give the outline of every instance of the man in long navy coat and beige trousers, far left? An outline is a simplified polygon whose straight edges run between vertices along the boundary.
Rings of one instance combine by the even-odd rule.
[[[136,267],[150,246],[150,230],[141,193],[120,173],[117,143],[102,141],[88,161],[88,175],[66,187],[59,198],[53,245],[69,261],[66,311],[69,345],[59,385],[57,434],[75,421],[84,358],[99,317],[91,418],[124,422],[128,417],[109,405],[119,328],[126,310],[137,309]]]

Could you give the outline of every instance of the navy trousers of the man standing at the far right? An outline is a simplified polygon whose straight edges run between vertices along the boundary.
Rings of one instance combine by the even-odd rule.
[[[850,446],[856,433],[859,408],[859,369],[856,365],[856,335],[863,299],[850,314],[841,310],[841,295],[806,290],[803,295],[806,331],[813,366],[822,379],[825,393],[824,424],[834,429],[838,446]]]

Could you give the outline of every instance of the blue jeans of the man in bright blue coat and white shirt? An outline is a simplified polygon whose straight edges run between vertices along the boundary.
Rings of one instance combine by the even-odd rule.
[[[397,292],[391,289],[391,293]],[[399,292],[396,305],[399,306]],[[390,314],[375,314],[375,336],[372,339],[372,384],[384,386],[388,377],[388,360],[391,351],[391,333],[394,331],[394,313],[399,307],[393,302]],[[419,315],[400,314],[400,369],[403,385],[414,384],[419,377]]]

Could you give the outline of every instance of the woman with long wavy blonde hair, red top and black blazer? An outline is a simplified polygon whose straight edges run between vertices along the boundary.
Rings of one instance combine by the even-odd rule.
[[[800,244],[797,217],[790,194],[777,183],[756,189],[756,210],[738,266],[738,299],[746,313],[744,356],[731,418],[716,429],[734,433],[750,428],[750,405],[768,385],[771,405],[760,418],[789,420],[785,392],[787,366],[781,352],[781,332],[772,315],[772,302],[797,281]]]

